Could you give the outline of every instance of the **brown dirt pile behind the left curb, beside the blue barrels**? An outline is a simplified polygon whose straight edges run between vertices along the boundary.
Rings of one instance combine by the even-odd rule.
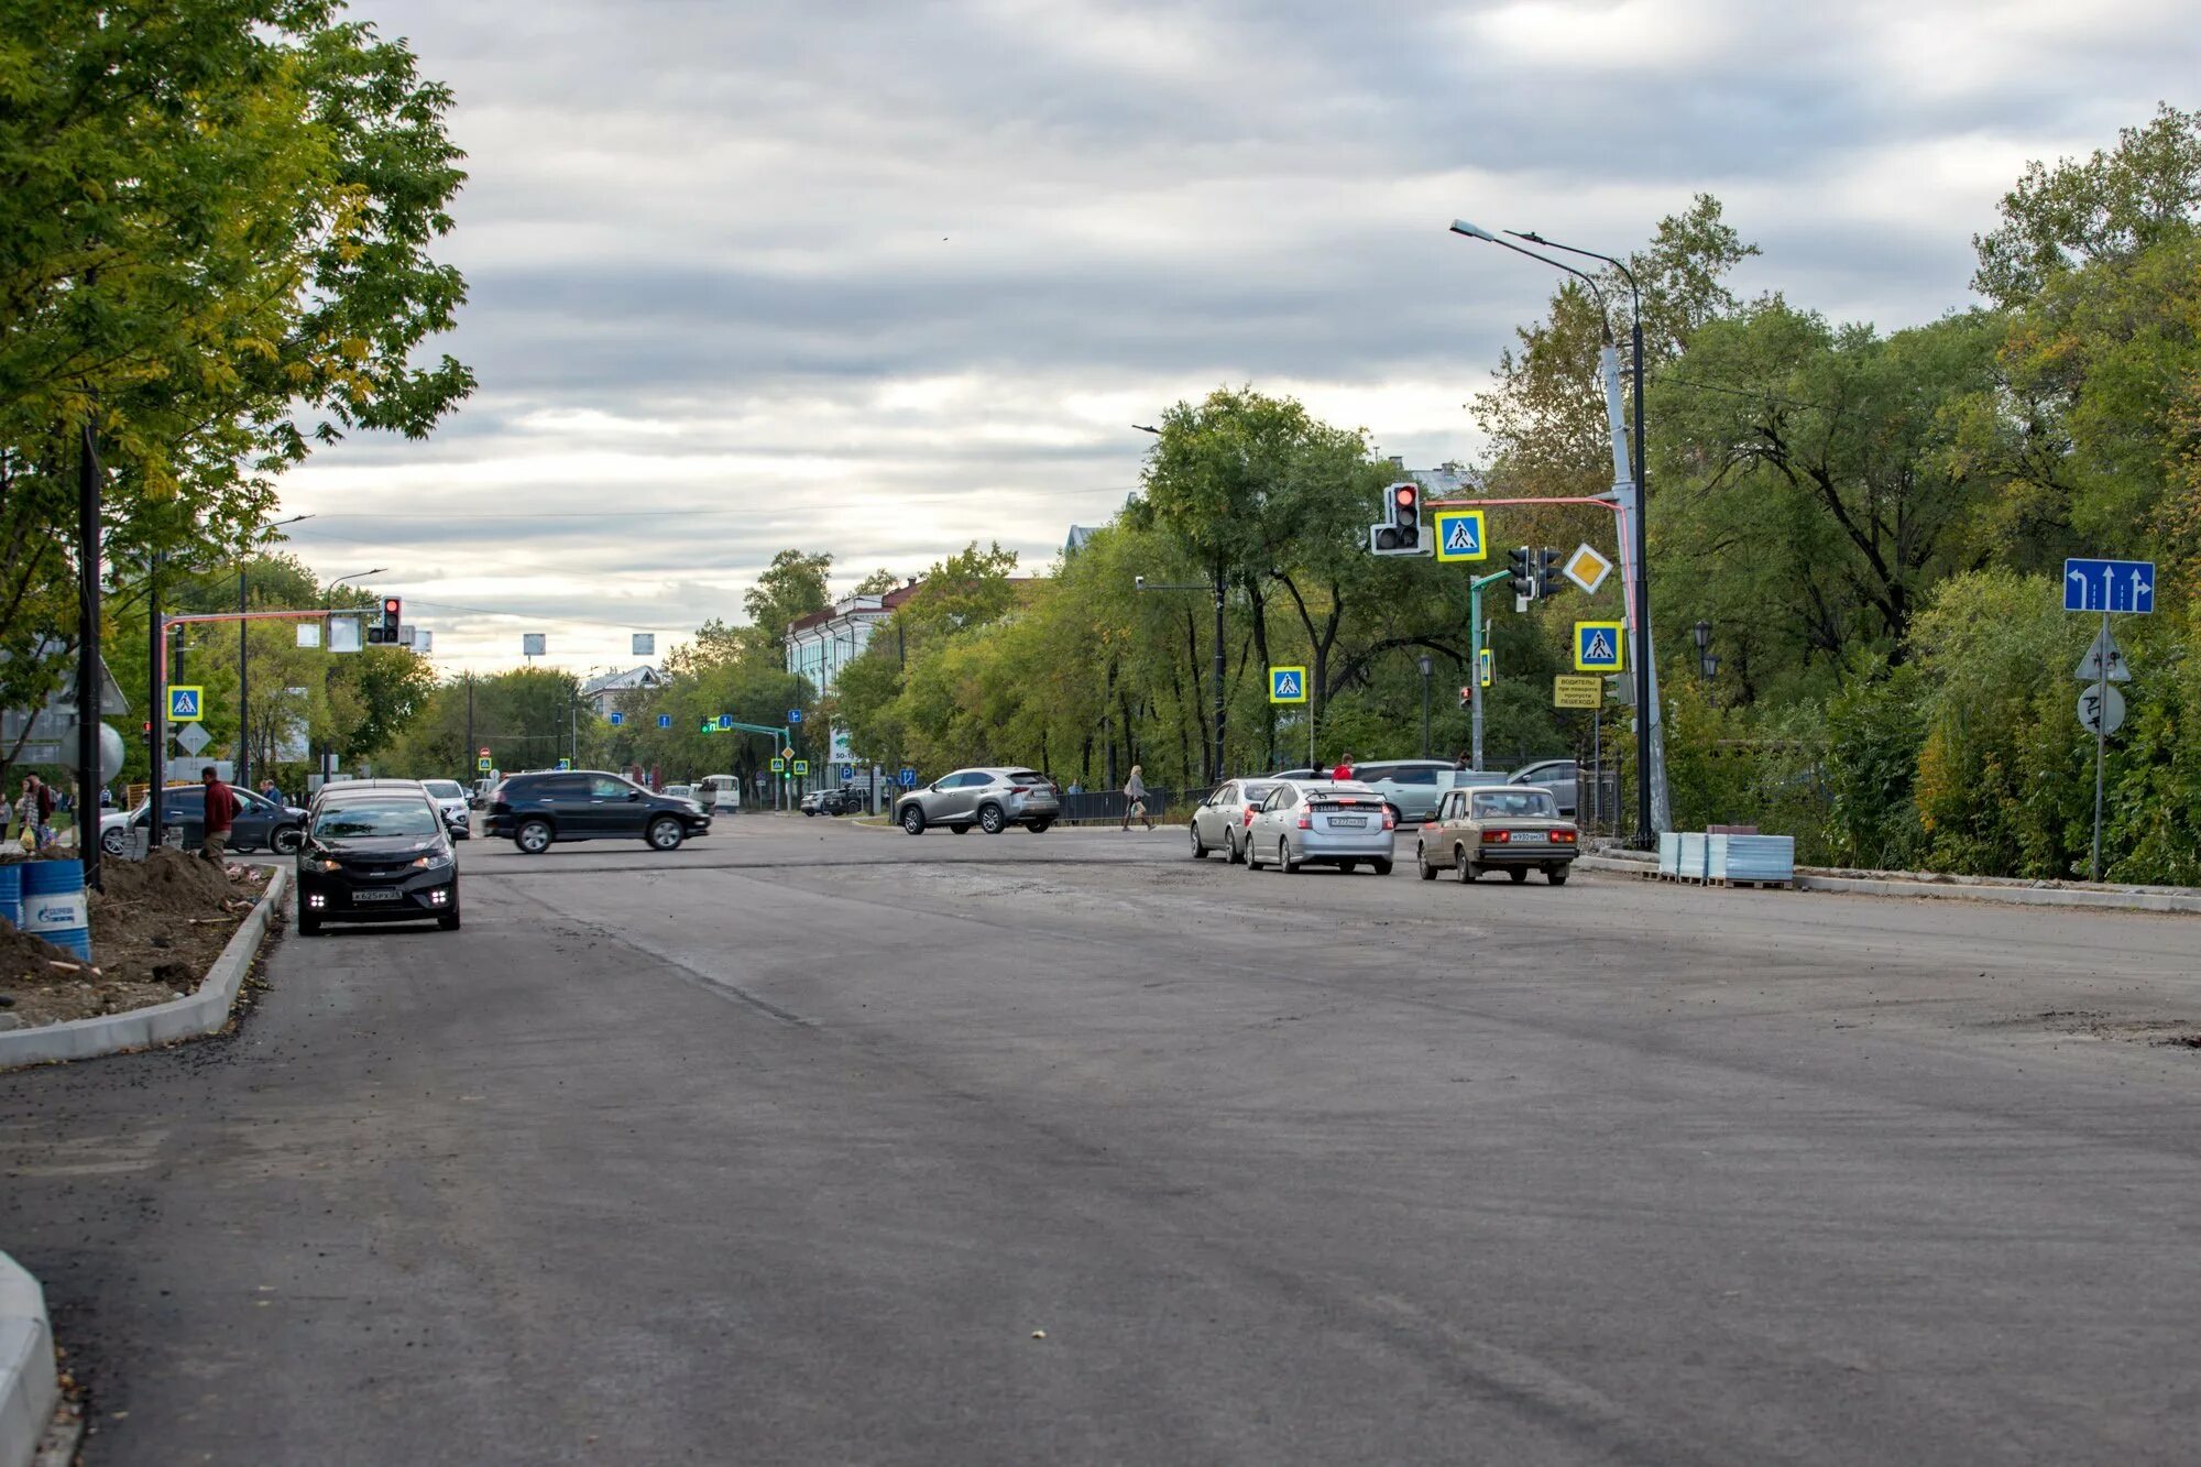
[[[0,921],[0,1029],[183,998],[205,980],[266,890],[264,868],[222,868],[180,850],[154,850],[145,861],[108,859],[99,877],[88,967]]]

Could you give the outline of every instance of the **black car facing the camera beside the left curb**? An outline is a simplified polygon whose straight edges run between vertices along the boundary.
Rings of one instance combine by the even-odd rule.
[[[297,852],[297,930],[321,923],[458,927],[458,855],[418,786],[324,791]]]

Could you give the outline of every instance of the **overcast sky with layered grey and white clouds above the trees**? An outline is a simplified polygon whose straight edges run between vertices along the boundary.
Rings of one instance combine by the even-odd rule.
[[[968,540],[1043,568],[1151,423],[1294,392],[1411,465],[1552,280],[1712,192],[1745,293],[1906,326],[1968,300],[2027,159],[2194,104],[2190,0],[352,0],[458,93],[431,443],[286,487],[451,672],[625,665],[784,546],[836,590]]]

